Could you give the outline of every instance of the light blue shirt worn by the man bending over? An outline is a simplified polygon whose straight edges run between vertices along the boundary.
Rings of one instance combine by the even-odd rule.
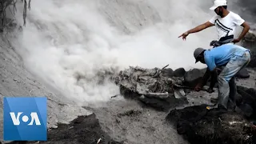
[[[242,46],[226,44],[215,47],[204,52],[204,58],[209,70],[212,71],[216,66],[225,65],[234,56],[242,56],[246,51],[250,51]]]

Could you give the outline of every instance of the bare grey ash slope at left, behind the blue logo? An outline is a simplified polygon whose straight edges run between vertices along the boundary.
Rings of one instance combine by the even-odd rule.
[[[3,97],[42,97],[48,98],[48,128],[56,128],[58,122],[68,123],[78,115],[92,114],[74,105],[70,99],[53,93],[30,74],[23,66],[22,58],[8,44],[8,38],[0,38],[0,142],[3,140]]]

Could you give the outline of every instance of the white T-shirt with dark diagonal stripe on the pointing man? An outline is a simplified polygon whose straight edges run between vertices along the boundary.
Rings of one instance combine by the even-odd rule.
[[[218,32],[218,40],[222,37],[230,36],[235,33],[235,28],[241,26],[244,19],[242,19],[238,14],[230,11],[226,17],[221,18],[221,16],[216,15],[210,19],[210,23],[214,24]]]

